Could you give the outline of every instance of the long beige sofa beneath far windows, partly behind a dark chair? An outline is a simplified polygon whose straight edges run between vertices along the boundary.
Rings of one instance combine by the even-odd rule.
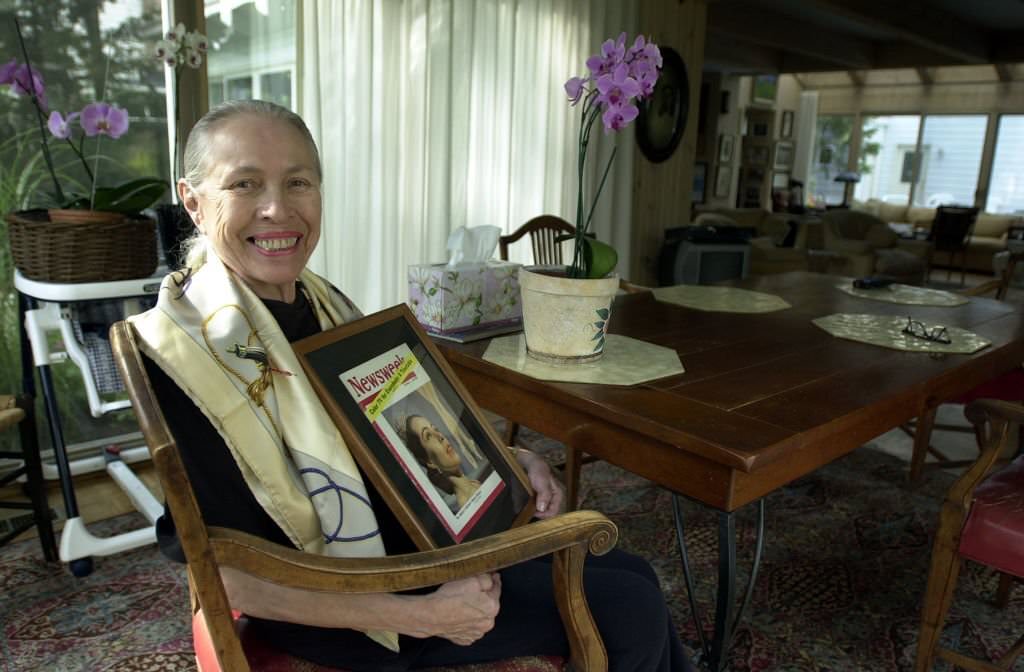
[[[894,224],[901,224],[916,232],[928,232],[935,220],[935,208],[896,205],[877,199],[864,202],[854,201],[851,209],[872,214]],[[1011,226],[1024,224],[1020,215],[993,214],[982,212],[974,222],[974,229],[967,246],[967,268],[975,272],[992,272],[992,257],[1007,249],[1007,232]],[[934,259],[939,264],[948,263],[943,255]]]

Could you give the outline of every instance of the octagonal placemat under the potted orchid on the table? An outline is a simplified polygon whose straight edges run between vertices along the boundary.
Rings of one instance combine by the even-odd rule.
[[[549,364],[526,353],[526,337],[495,338],[483,359],[539,380],[599,385],[636,385],[685,371],[675,350],[629,336],[608,334],[604,356],[587,364]]]

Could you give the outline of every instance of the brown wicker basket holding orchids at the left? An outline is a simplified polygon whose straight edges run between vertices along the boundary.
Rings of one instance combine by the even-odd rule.
[[[23,276],[44,283],[99,283],[148,278],[157,269],[154,220],[74,212],[75,222],[52,221],[46,210],[4,217],[10,254]]]

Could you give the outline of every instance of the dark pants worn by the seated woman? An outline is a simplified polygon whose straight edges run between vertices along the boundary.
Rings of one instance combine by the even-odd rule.
[[[587,602],[608,653],[609,672],[691,672],[654,571],[623,551],[589,556]],[[254,620],[255,621],[255,620]],[[327,667],[392,672],[501,661],[519,656],[568,657],[554,600],[551,558],[502,571],[501,611],[494,629],[469,646],[446,639],[400,637],[394,654],[366,635],[276,622],[253,624],[267,643]]]

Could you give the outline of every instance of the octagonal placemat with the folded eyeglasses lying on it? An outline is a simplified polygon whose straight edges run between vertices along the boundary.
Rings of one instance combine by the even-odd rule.
[[[846,338],[851,341],[881,345],[907,352],[971,354],[992,344],[991,341],[974,332],[958,327],[946,327],[949,343],[939,343],[911,336],[903,333],[903,329],[906,327],[906,318],[894,316],[837,312],[824,318],[817,318],[811,322],[837,338]],[[925,328],[928,330],[942,326],[945,325],[925,323]]]

